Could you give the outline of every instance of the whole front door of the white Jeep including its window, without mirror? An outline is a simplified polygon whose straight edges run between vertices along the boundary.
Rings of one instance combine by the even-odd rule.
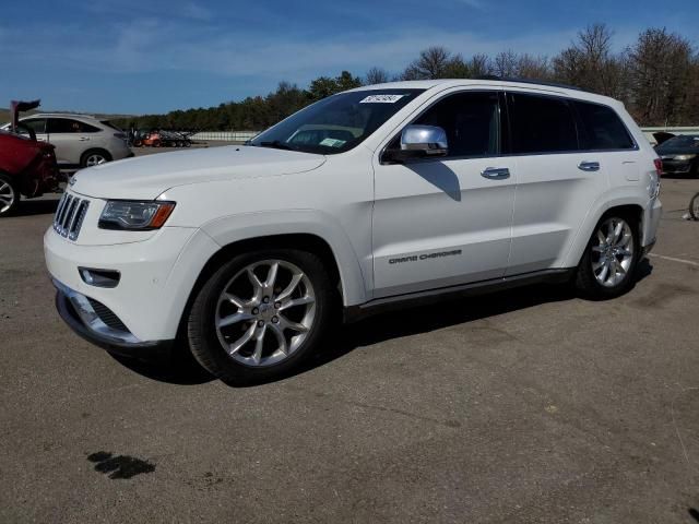
[[[376,159],[377,298],[505,274],[517,172],[512,159],[498,156],[498,104],[495,93],[452,94],[413,122],[445,129],[450,157]],[[502,170],[486,177],[488,168]]]

